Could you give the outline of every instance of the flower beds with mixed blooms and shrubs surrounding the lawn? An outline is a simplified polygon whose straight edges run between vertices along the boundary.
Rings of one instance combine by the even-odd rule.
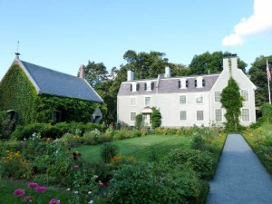
[[[218,130],[200,128],[157,131],[166,135],[175,131],[182,137],[191,137],[195,150],[177,149],[162,159],[153,146],[151,160],[141,162],[121,155],[114,144],[105,143],[101,160],[89,162],[83,160],[81,152],[72,149],[69,140],[76,136],[99,141],[101,131],[82,134],[78,130],[76,135],[54,141],[44,139],[40,133],[32,133],[23,141],[1,143],[0,176],[34,180],[27,188],[13,189],[17,203],[39,203],[50,186],[62,188],[67,193],[65,203],[68,204],[205,203],[209,192],[206,180],[216,168],[224,137],[216,136]],[[141,131],[108,130],[103,133],[111,138],[118,135],[119,139],[143,136]],[[41,203],[63,202],[52,197]]]

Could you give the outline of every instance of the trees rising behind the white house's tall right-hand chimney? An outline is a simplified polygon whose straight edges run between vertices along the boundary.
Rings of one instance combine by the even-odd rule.
[[[195,55],[189,63],[190,74],[207,74],[219,73],[223,70],[223,55],[228,54],[222,52],[201,53]],[[246,72],[247,63],[238,58],[238,68]]]

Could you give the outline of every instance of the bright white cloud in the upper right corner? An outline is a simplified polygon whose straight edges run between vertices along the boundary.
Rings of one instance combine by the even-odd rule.
[[[254,0],[254,14],[242,18],[234,32],[222,40],[223,45],[241,45],[248,36],[272,34],[272,0]]]

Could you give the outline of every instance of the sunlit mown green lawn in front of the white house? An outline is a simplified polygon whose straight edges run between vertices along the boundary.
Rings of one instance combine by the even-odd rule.
[[[189,148],[190,139],[180,135],[148,135],[141,138],[132,138],[122,141],[113,141],[120,148],[120,154],[126,157],[133,156],[136,160],[146,161],[151,155],[152,148],[160,157],[166,155],[170,149]],[[82,146],[75,151],[83,154],[85,160],[101,160],[102,145]]]

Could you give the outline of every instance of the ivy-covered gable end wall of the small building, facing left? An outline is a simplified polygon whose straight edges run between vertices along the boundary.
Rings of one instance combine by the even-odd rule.
[[[0,84],[0,110],[19,112],[19,123],[34,122],[36,91],[19,65],[13,65]]]

